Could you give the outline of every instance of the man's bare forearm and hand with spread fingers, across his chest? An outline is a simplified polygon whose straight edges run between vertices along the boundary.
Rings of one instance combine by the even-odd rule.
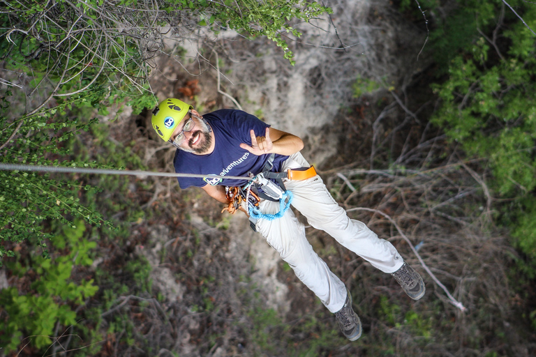
[[[240,147],[253,153],[253,155],[263,155],[265,153],[292,155],[304,149],[304,142],[299,137],[274,128],[266,128],[264,137],[255,137],[253,130],[251,130],[250,135],[251,146],[242,143]]]

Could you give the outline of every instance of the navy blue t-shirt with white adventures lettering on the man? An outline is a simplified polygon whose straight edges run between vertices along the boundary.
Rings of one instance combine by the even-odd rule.
[[[195,155],[177,149],[174,158],[175,172],[181,174],[214,174],[217,176],[248,176],[248,172],[259,174],[265,166],[270,154],[253,155],[240,144],[251,146],[250,130],[255,131],[255,136],[266,135],[269,125],[260,121],[256,116],[235,109],[220,109],[216,112],[204,114],[214,132],[214,151],[207,155]],[[281,162],[288,156],[276,154],[274,158],[273,172],[281,169]],[[210,183],[211,179],[197,179],[178,177],[181,188],[190,186],[203,187]],[[218,181],[218,180],[215,180]],[[224,179],[218,185],[241,186],[247,182],[237,179]]]

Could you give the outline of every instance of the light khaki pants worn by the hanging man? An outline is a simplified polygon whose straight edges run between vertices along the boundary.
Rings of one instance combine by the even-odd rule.
[[[283,162],[282,170],[308,166],[301,153],[295,153]],[[307,218],[311,226],[326,231],[338,243],[384,273],[393,273],[402,266],[403,259],[396,248],[385,239],[378,238],[363,222],[350,220],[329,194],[320,176],[304,181],[285,181],[285,187],[292,192],[292,206]],[[279,203],[262,199],[260,211],[277,213]],[[346,298],[345,285],[314,252],[305,236],[304,225],[292,210],[276,220],[258,220],[256,229],[329,311],[341,310]]]

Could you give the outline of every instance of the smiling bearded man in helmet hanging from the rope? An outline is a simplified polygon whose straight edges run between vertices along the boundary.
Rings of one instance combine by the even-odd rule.
[[[201,116],[185,102],[170,98],[154,109],[152,124],[158,136],[177,147],[174,158],[177,173],[215,175],[204,179],[179,177],[181,188],[198,186],[223,204],[228,204],[225,186],[242,187],[249,183],[247,179],[225,179],[225,176],[247,177],[262,172],[269,176],[310,166],[299,153],[304,147],[299,137],[271,128],[239,110],[221,109]],[[329,195],[320,176],[314,173],[307,179],[283,179],[283,184],[284,190],[292,192],[292,206],[311,226],[326,231],[380,271],[392,274],[410,298],[418,300],[424,296],[424,282],[419,274],[405,264],[391,243],[378,238],[364,223],[350,220]],[[268,194],[269,190],[262,185],[258,188],[260,195],[263,191]],[[349,340],[357,340],[362,326],[352,309],[350,291],[313,251],[304,225],[294,213],[281,212],[277,197],[268,196],[260,198],[260,212],[265,215],[279,212],[282,216],[259,218],[254,229],[335,314],[343,334]],[[244,206],[242,209],[246,211]]]

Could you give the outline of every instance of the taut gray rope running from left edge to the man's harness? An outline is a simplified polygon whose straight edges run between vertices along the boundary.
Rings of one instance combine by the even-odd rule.
[[[163,177],[193,177],[193,178],[218,178],[234,180],[250,180],[248,176],[218,176],[202,174],[180,174],[174,172],[152,172],[140,170],[119,170],[119,169],[94,169],[87,167],[62,167],[62,166],[40,166],[21,164],[1,164],[1,171],[33,171],[33,172],[70,172],[74,174],[98,174],[98,175],[130,175],[130,176],[163,176]]]

